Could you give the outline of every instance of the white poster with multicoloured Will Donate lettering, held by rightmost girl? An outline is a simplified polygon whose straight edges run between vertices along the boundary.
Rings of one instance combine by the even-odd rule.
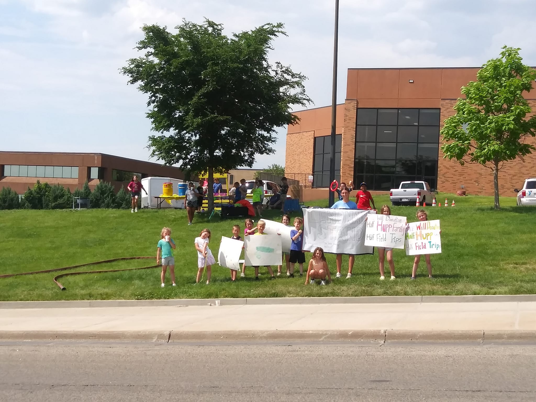
[[[439,254],[441,235],[439,220],[412,222],[406,231],[406,255]]]

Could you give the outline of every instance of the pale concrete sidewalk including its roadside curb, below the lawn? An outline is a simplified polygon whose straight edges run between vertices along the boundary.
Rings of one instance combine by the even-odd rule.
[[[0,340],[526,340],[536,302],[0,309]]]

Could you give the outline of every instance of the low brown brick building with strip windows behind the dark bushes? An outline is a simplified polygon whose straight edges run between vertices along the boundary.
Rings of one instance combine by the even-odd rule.
[[[182,170],[173,166],[103,153],[0,151],[0,189],[10,187],[18,194],[33,187],[38,180],[50,185],[61,184],[71,191],[81,189],[86,181],[93,190],[103,180],[118,191],[126,187],[135,174],[139,180],[148,176],[184,177]]]

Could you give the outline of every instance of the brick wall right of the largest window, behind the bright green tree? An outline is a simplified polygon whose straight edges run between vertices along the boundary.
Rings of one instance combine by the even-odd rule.
[[[536,100],[530,100],[532,110],[536,113]],[[441,127],[446,118],[455,114],[453,106],[456,100],[441,101]],[[536,139],[527,138],[527,143],[536,146]],[[440,146],[443,144],[440,139]],[[513,196],[513,189],[519,188],[525,178],[536,176],[536,153],[527,155],[523,159],[516,158],[510,162],[504,162],[499,171],[499,192],[501,196]],[[443,159],[440,150],[438,172],[437,172],[437,189],[442,192],[456,192],[460,190],[460,185],[464,185],[464,190],[472,195],[489,195],[494,194],[493,173],[491,169],[481,165],[472,165],[466,163],[461,166],[456,160]]]

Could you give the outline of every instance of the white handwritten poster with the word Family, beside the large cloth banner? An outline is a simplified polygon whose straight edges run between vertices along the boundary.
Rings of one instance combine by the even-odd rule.
[[[365,245],[393,249],[404,248],[406,217],[383,214],[369,215],[366,226]]]

